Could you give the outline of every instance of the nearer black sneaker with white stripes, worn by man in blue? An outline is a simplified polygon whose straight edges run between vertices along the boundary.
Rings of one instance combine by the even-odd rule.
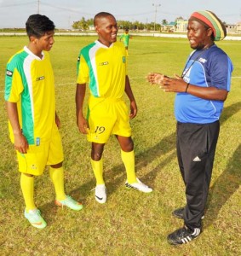
[[[201,229],[195,228],[194,230],[189,230],[186,226],[180,230],[175,230],[173,233],[169,234],[168,241],[172,245],[179,245],[187,243],[197,238],[201,233]]]

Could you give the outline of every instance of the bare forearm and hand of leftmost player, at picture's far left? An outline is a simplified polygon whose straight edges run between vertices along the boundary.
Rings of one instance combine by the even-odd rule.
[[[14,132],[14,148],[22,154],[26,154],[28,143],[26,137],[22,134],[17,110],[17,103],[6,102],[6,109],[9,116],[10,124]]]

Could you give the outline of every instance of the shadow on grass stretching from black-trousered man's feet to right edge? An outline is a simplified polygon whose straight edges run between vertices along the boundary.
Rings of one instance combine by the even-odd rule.
[[[208,226],[215,221],[221,207],[226,204],[229,198],[236,192],[241,184],[241,144],[232,154],[227,168],[217,178],[214,185],[209,189],[209,200],[207,203],[207,218],[205,224]],[[232,212],[230,212],[232,214]]]

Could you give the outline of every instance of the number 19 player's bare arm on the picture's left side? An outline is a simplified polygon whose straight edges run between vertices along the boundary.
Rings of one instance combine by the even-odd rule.
[[[77,84],[76,87],[76,117],[77,117],[77,127],[83,134],[88,133],[89,125],[87,120],[83,117],[83,101],[86,91],[86,84]]]

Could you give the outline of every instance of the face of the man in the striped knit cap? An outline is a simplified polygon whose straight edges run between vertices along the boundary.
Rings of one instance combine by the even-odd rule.
[[[206,28],[197,20],[189,20],[187,26],[187,38],[192,49],[204,49],[210,44],[212,30]]]

